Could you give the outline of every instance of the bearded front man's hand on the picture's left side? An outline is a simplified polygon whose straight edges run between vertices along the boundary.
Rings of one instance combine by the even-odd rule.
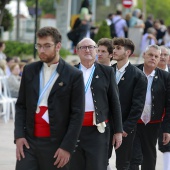
[[[18,138],[16,139],[16,158],[17,160],[21,160],[21,156],[22,158],[25,158],[25,155],[24,155],[24,151],[23,151],[23,146],[26,146],[27,149],[29,149],[29,145],[28,145],[28,142],[25,138]]]

